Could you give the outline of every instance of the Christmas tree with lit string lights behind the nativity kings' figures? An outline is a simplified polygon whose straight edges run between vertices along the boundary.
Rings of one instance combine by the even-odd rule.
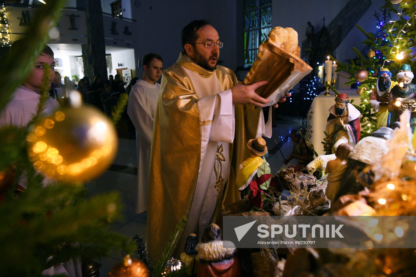
[[[337,62],[337,71],[346,71],[352,76],[346,85],[357,83],[357,93],[361,94],[361,103],[354,105],[363,115],[361,121],[361,136],[365,137],[377,129],[376,112],[370,105],[371,92],[376,91],[377,73],[380,69],[389,69],[392,73],[391,81],[396,80],[396,73],[402,64],[409,64],[415,68],[415,55],[411,49],[415,44],[415,14],[416,1],[389,1],[385,0],[381,7],[383,17],[375,14],[379,20],[375,34],[364,31],[357,26],[366,36],[362,43],[367,45],[370,50],[364,56],[357,48],[353,51],[357,54],[357,59],[350,62]],[[396,3],[396,4],[393,4]],[[400,3],[399,3],[400,2]],[[397,5],[399,3],[399,5]],[[390,14],[397,15],[396,20],[389,19]]]

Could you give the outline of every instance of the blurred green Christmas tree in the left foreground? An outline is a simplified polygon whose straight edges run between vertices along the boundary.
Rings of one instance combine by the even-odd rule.
[[[0,110],[5,108],[12,93],[29,74],[48,40],[48,31],[56,24],[65,2],[48,1],[47,5],[42,6],[28,34],[22,39],[24,43],[2,60]],[[3,18],[6,18],[4,7],[1,12]],[[2,19],[2,28],[4,22]],[[54,126],[40,126],[50,122],[40,116],[49,91],[47,72],[49,70],[45,69],[38,113],[32,123],[29,126],[0,128],[1,276],[41,276],[43,270],[66,262],[74,255],[82,258],[103,255],[110,249],[121,249],[129,253],[135,248],[129,238],[108,230],[109,223],[121,215],[120,197],[117,193],[87,198],[86,188],[80,181],[65,178],[55,181],[53,185],[43,185],[45,177],[38,173],[42,171],[42,166],[46,163],[60,164],[63,169],[64,155],[61,151],[58,154],[57,149],[46,146],[49,148],[44,149],[44,154],[37,153],[40,161],[36,164],[34,157],[37,156],[31,156],[30,153],[39,150],[36,147],[42,146],[42,143],[35,147],[31,144],[32,138],[36,135],[46,136],[47,130],[57,129],[60,122],[61,125],[65,122],[68,127],[74,124],[69,119],[70,113],[64,114],[62,109],[54,115]],[[66,111],[70,110],[68,108]],[[100,126],[103,127],[102,124]],[[61,134],[53,139],[60,141],[63,136]],[[103,155],[102,153],[101,156]],[[85,159],[83,166],[92,166],[89,163],[93,162],[98,164],[100,159],[102,158],[97,156]],[[67,171],[71,171],[69,166]],[[47,173],[45,175],[48,176]],[[21,192],[18,183],[23,176],[27,179],[27,188]]]

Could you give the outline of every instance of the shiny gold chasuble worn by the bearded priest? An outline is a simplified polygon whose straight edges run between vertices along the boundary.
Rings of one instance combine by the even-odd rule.
[[[239,198],[235,185],[236,169],[250,156],[247,143],[256,138],[262,116],[260,118],[261,109],[238,104],[225,115],[216,114],[217,110],[222,113],[223,106],[227,109],[232,106],[231,92],[223,92],[227,93],[225,91],[235,84],[237,78],[232,70],[217,66],[217,69],[208,71],[183,53],[176,64],[162,73],[149,171],[147,244],[152,262],[158,262],[183,216],[189,221],[178,243],[178,247],[182,247],[177,249],[179,253],[183,251],[183,238],[189,235],[186,230],[191,230],[188,225],[191,218],[195,218],[193,211],[197,211],[197,216],[214,213],[212,221],[215,221],[225,206]],[[208,102],[212,108],[204,104]],[[222,118],[231,122],[235,120],[235,124],[231,124],[232,130]],[[223,139],[222,132],[233,135]],[[207,157],[214,158],[210,161]],[[200,188],[203,183],[201,176],[208,176],[205,183],[209,183],[209,188]],[[215,212],[206,203],[213,203]],[[205,224],[207,220],[208,225],[210,219],[202,221]],[[203,232],[201,228],[205,226],[194,225],[193,228]]]

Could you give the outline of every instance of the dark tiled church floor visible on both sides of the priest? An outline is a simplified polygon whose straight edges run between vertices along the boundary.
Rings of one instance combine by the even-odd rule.
[[[280,150],[285,158],[292,152],[293,143],[289,140],[290,131],[301,126],[300,119],[287,118],[280,119],[277,127],[273,128],[272,138],[265,138],[269,156],[267,161],[270,164],[272,173],[276,173],[282,166],[284,158],[276,147],[276,143],[280,144]],[[287,143],[287,141],[289,142]],[[280,141],[283,141],[280,143]],[[292,161],[294,163],[295,161]],[[135,235],[146,235],[146,213],[134,213],[134,202],[136,200],[136,141],[134,139],[120,139],[119,151],[114,160],[113,166],[96,180],[86,184],[88,195],[109,192],[116,190],[121,195],[121,202],[124,205],[122,219],[111,225],[110,230],[119,232],[122,235],[133,237]],[[101,262],[100,276],[107,276],[111,267],[119,262],[124,253],[112,252],[109,256],[97,258],[97,262]]]

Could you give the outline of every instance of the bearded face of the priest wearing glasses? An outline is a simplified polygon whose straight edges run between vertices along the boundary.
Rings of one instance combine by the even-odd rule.
[[[206,25],[196,31],[198,39],[193,44],[193,53],[189,57],[200,67],[208,70],[217,68],[218,57],[220,57],[220,48],[214,43],[220,41],[217,30],[211,25]],[[205,47],[205,42],[213,42],[213,47]]]

